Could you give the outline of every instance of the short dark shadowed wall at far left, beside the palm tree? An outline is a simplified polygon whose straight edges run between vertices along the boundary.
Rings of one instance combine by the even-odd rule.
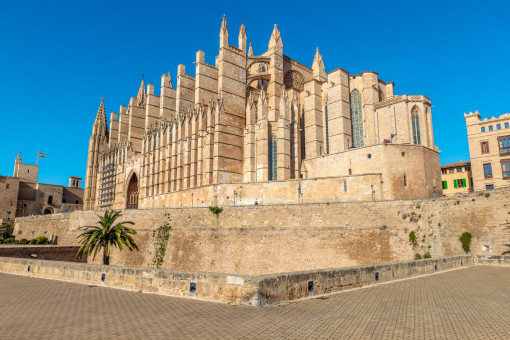
[[[87,263],[87,257],[76,259],[79,248],[78,246],[1,244],[0,257]]]

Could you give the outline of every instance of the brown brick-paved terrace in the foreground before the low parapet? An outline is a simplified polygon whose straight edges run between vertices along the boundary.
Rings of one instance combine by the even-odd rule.
[[[262,309],[2,273],[0,306],[1,339],[510,339],[510,268]]]

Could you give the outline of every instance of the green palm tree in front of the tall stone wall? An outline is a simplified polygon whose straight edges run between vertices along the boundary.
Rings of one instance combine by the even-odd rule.
[[[99,217],[98,226],[82,227],[81,229],[85,231],[77,237],[81,238],[81,247],[76,258],[81,259],[85,254],[90,256],[94,253],[93,259],[95,259],[97,253],[104,249],[103,264],[109,265],[112,245],[118,247],[120,251],[124,249],[124,246],[130,251],[138,250],[138,246],[131,236],[136,234],[136,230],[125,226],[126,224],[134,225],[134,223],[125,221],[114,224],[120,216],[122,216],[120,211],[107,210],[104,212],[104,216],[97,215]]]

